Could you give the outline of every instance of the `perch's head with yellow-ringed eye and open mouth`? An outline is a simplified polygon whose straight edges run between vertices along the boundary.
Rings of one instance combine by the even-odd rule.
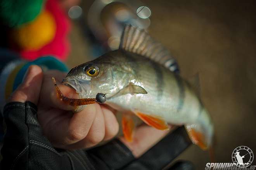
[[[80,98],[95,98],[97,93],[114,95],[128,84],[130,77],[116,62],[98,58],[72,68],[62,84],[74,88]]]

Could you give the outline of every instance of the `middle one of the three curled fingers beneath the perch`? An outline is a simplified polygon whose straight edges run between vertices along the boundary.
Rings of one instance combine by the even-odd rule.
[[[96,108],[96,114],[88,134],[84,139],[78,141],[77,143],[67,146],[68,149],[90,148],[92,146],[97,145],[104,139],[105,124],[102,109],[100,108],[99,104],[94,105]]]

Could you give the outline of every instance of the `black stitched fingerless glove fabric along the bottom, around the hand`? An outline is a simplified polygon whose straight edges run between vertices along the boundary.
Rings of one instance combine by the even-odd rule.
[[[89,150],[58,150],[43,136],[31,102],[11,102],[4,108],[2,169],[22,170],[159,170],[190,144],[184,127],[162,139],[140,158],[118,139]],[[190,162],[177,162],[174,170],[194,169]]]

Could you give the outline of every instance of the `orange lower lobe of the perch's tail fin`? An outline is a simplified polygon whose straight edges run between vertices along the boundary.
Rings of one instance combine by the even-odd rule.
[[[195,145],[198,145],[202,150],[207,150],[208,149],[208,146],[205,143],[204,134],[198,132],[194,128],[187,129],[187,132],[189,134],[189,137],[190,137],[191,141]]]

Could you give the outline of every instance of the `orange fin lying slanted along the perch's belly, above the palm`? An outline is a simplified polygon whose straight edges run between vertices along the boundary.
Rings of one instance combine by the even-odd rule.
[[[159,130],[167,130],[169,129],[168,124],[162,117],[159,116],[152,116],[152,115],[147,115],[141,112],[137,112],[136,115],[142,119],[142,121],[145,122],[145,124],[148,124],[149,126],[152,126],[156,129]]]

